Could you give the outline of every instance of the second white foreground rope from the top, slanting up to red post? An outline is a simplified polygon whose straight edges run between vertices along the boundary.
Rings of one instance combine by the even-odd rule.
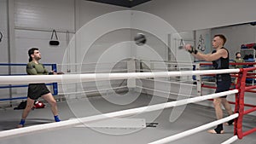
[[[211,95],[198,96],[198,97],[183,99],[179,101],[171,101],[171,102],[156,104],[156,105],[147,106],[147,107],[132,108],[132,109],[118,111],[118,112],[103,113],[100,115],[79,118],[79,119],[71,119],[67,121],[61,121],[58,123],[40,124],[40,125],[34,125],[34,126],[15,129],[15,130],[4,130],[4,131],[0,131],[0,140],[3,138],[9,138],[15,135],[32,134],[32,132],[37,132],[37,131],[42,132],[45,130],[57,130],[61,128],[70,128],[75,125],[86,124],[86,123],[103,120],[107,118],[120,118],[125,116],[131,116],[141,112],[152,112],[152,111],[162,110],[164,108],[182,106],[185,104],[194,103],[198,101],[205,101],[207,99],[213,99],[213,98],[224,96],[224,95],[236,94],[237,92],[238,90],[234,89],[234,90],[224,91],[224,92],[211,94]]]

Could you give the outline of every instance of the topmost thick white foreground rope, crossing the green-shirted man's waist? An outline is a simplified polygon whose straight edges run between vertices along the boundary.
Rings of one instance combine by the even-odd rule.
[[[240,72],[239,69],[179,71],[179,72],[120,72],[120,73],[87,73],[64,75],[29,75],[29,76],[0,76],[0,84],[38,84],[61,82],[90,82],[99,80],[114,80],[128,78],[164,78],[177,76],[193,76],[203,74],[220,74]]]

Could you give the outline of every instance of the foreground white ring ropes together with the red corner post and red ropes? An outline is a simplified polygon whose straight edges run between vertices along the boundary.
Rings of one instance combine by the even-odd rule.
[[[252,68],[242,68],[242,69],[225,69],[225,70],[201,70],[201,71],[182,71],[182,72],[121,72],[121,73],[88,73],[88,74],[66,74],[66,75],[47,75],[47,76],[0,76],[1,84],[28,84],[28,83],[79,83],[79,82],[91,82],[91,81],[102,81],[102,80],[113,80],[113,79],[132,79],[132,78],[166,78],[166,77],[177,77],[177,76],[201,76],[201,75],[212,75],[212,74],[220,74],[220,73],[236,73],[238,74],[236,89],[230,89],[229,91],[210,94],[210,95],[202,95],[197,97],[192,97],[184,100],[178,101],[170,101],[166,103],[160,103],[147,107],[137,107],[131,108],[123,111],[117,112],[108,112],[100,115],[94,115],[85,118],[74,118],[65,121],[61,121],[59,123],[49,123],[49,124],[39,124],[33,125],[21,129],[14,130],[4,130],[0,131],[0,139],[9,139],[12,137],[17,137],[21,135],[28,135],[33,132],[42,132],[49,130],[59,130],[59,129],[67,129],[80,124],[87,124],[90,122],[101,121],[108,118],[123,118],[128,117],[141,112],[154,112],[161,109],[166,109],[170,107],[178,107],[187,105],[190,103],[195,103],[198,101],[206,101],[209,99],[214,99],[224,95],[232,95],[236,94],[236,108],[235,113],[230,115],[229,117],[219,119],[217,121],[213,121],[209,124],[204,124],[199,127],[196,127],[191,130],[183,131],[182,133],[178,133],[176,135],[172,135],[166,137],[161,140],[156,140],[150,142],[151,144],[156,143],[167,143],[170,141],[177,141],[188,135],[193,135],[195,133],[201,132],[202,130],[207,130],[213,126],[218,124],[223,124],[224,122],[229,121],[230,119],[236,119],[234,125],[234,136],[232,136],[227,141],[224,141],[223,144],[231,143],[238,139],[242,139],[246,135],[250,135],[256,131],[256,128],[252,130],[247,130],[243,132],[242,130],[242,121],[244,115],[255,112],[256,107],[251,109],[247,109],[244,111],[244,93],[246,91],[252,91],[252,89],[256,89],[256,85],[254,86],[246,86],[246,78],[256,78],[253,76],[250,71],[256,70],[256,67]],[[35,80],[36,79],[36,80]]]

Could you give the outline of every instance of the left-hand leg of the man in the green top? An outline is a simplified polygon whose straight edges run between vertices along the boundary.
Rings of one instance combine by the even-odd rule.
[[[18,124],[17,128],[21,128],[21,127],[24,126],[26,117],[27,117],[28,113],[31,111],[32,107],[34,106],[34,102],[35,102],[34,100],[27,97],[27,99],[26,99],[26,108],[22,112],[20,124]]]

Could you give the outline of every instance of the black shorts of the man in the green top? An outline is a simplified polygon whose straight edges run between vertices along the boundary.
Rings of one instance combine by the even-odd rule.
[[[45,84],[29,84],[27,89],[27,97],[32,100],[38,100],[42,95],[49,93],[49,89]]]

